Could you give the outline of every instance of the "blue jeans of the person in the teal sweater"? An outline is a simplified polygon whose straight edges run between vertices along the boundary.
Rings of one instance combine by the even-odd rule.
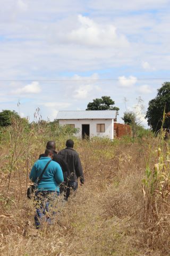
[[[53,190],[37,191],[35,194],[35,225],[39,229],[41,222],[52,224],[52,216],[56,214],[56,204],[60,193]]]

